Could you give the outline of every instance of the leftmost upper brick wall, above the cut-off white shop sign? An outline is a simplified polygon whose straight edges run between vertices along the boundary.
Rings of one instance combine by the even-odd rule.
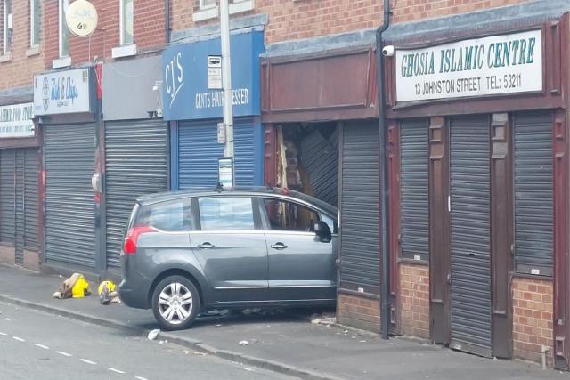
[[[40,2],[44,4],[44,2]],[[34,73],[43,69],[44,58],[41,49],[28,56],[29,49],[29,2],[12,0],[13,35],[10,61],[0,63],[0,90],[31,85]],[[2,22],[0,22],[0,25]],[[41,38],[40,33],[40,47]],[[1,51],[0,51],[1,52]],[[29,53],[29,52],[28,52]]]

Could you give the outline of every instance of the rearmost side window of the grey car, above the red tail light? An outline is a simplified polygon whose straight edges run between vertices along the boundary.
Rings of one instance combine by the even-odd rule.
[[[136,226],[150,226],[157,230],[179,232],[191,230],[191,206],[189,200],[142,206]]]

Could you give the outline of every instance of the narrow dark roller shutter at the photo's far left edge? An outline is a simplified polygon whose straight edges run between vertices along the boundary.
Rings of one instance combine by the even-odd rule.
[[[15,150],[0,151],[0,240],[4,243],[13,243],[16,233],[14,213],[15,154]]]

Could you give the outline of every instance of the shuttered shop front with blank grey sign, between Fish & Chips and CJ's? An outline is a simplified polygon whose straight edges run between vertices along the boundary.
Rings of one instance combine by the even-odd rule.
[[[168,190],[168,124],[159,117],[160,62],[160,56],[150,56],[103,64],[102,250],[109,271],[120,267],[134,199]]]

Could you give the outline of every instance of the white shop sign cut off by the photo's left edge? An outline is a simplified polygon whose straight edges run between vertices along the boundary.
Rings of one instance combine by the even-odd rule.
[[[34,103],[0,107],[0,139],[34,137]]]

